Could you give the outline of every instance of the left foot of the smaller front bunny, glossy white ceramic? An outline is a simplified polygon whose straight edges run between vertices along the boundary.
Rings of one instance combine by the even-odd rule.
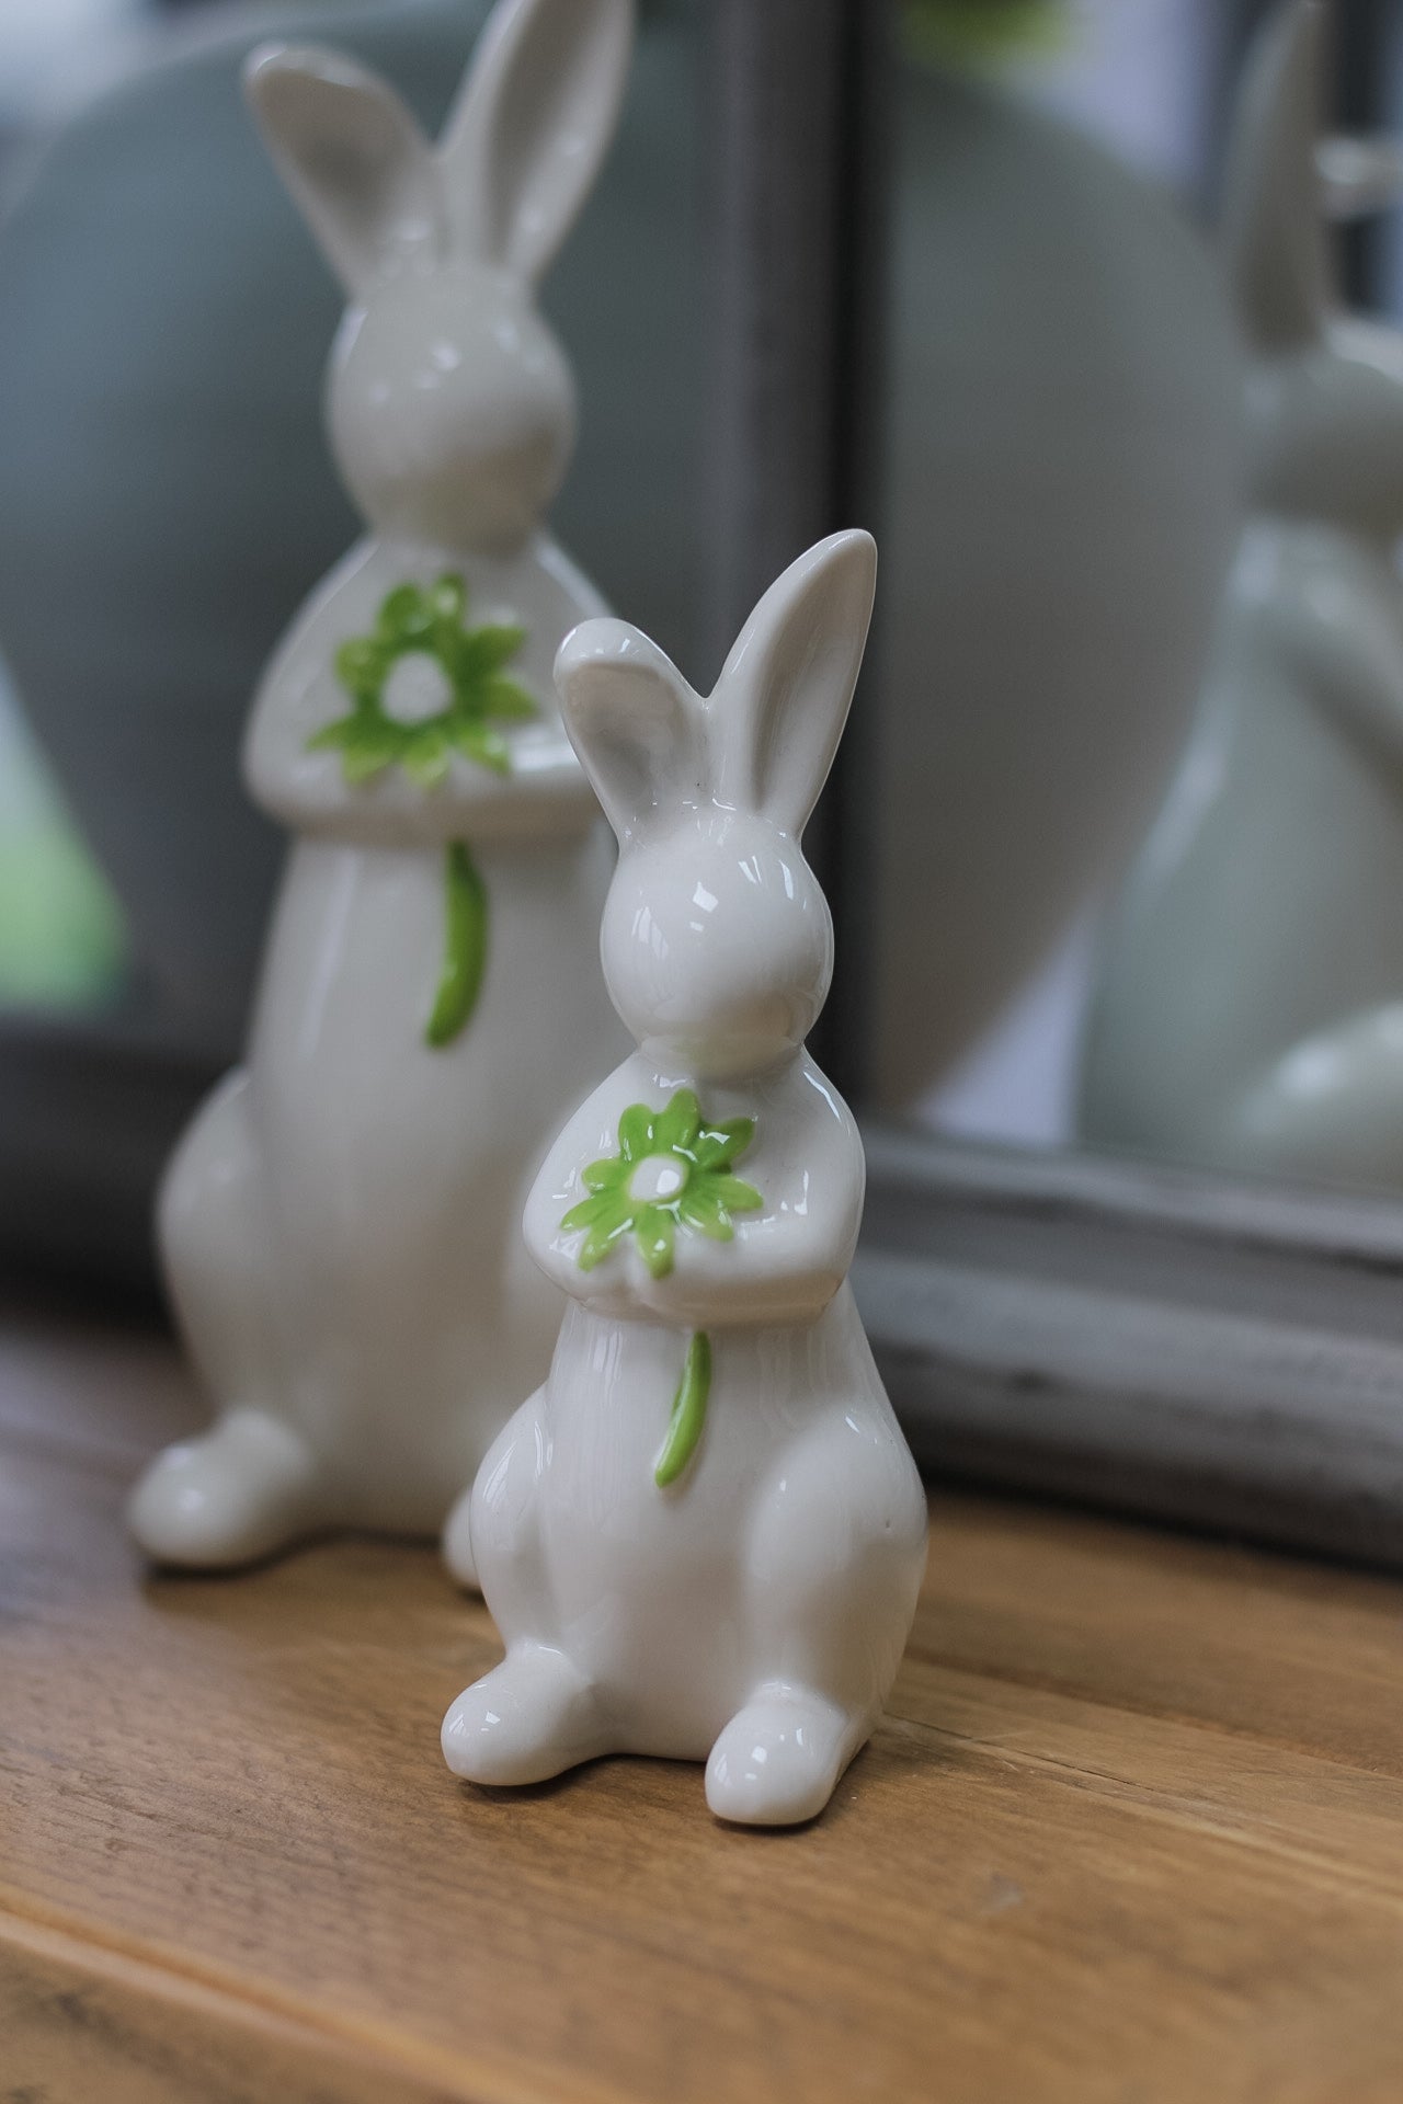
[[[547,1782],[610,1751],[593,1687],[564,1652],[522,1645],[444,1717],[444,1759],[467,1782]]]

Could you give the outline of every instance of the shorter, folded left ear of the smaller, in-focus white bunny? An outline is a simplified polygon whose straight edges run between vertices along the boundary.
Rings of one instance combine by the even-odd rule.
[[[703,795],[703,705],[625,621],[581,621],[555,654],[566,730],[621,844]]]

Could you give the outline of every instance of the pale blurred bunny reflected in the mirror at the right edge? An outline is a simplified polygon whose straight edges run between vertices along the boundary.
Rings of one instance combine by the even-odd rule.
[[[1195,734],[1106,943],[1081,1130],[1233,1172],[1403,1185],[1403,335],[1336,303],[1323,32],[1315,0],[1270,19],[1237,120],[1252,518]],[[1378,202],[1376,160],[1355,158],[1359,202]]]

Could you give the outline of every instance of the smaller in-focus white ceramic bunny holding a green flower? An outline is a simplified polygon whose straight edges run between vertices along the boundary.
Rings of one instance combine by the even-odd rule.
[[[833,924],[799,837],[873,581],[869,534],[810,549],[705,701],[618,621],[555,663],[621,842],[602,957],[639,1050],[530,1193],[570,1307],[446,1532],[507,1645],[444,1719],[473,1782],[705,1759],[721,1818],[808,1820],[907,1643],[926,1500],[848,1283],[862,1142],[804,1050]]]

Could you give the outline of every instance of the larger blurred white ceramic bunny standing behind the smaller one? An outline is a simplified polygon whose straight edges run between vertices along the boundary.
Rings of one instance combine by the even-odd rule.
[[[501,0],[438,149],[328,50],[248,95],[351,305],[337,461],[370,534],[292,625],[246,772],[299,837],[248,1065],[179,1147],[160,1239],[219,1405],[130,1504],[227,1565],[328,1525],[433,1532],[549,1365],[522,1195],[616,1056],[608,827],[551,688],[602,602],[541,530],[572,383],[534,305],[612,135],[631,0]]]

